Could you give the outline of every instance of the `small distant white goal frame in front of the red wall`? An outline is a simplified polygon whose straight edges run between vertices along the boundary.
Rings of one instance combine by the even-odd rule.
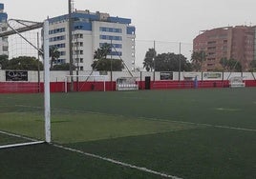
[[[68,92],[68,83],[69,80],[73,78],[84,78],[84,80],[79,79],[79,83],[86,83],[86,82],[102,82],[103,83],[103,90],[106,91],[106,76],[104,75],[66,75],[65,76],[65,92]]]

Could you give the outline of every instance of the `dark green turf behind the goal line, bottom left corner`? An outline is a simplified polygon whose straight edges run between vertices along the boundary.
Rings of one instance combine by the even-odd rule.
[[[5,179],[160,178],[46,144],[1,149],[0,158],[0,178]]]

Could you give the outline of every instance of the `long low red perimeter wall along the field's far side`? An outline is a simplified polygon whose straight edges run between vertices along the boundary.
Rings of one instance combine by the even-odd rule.
[[[139,81],[139,89],[145,89],[145,82]],[[228,80],[216,81],[198,81],[195,84],[193,81],[151,81],[150,89],[194,89],[194,88],[228,88]],[[38,88],[39,87],[39,88]],[[51,82],[51,92],[64,92],[64,82]],[[255,80],[245,80],[245,87],[256,87]],[[75,91],[99,91],[103,90],[103,82],[74,82]],[[116,90],[116,82],[106,82],[106,90]],[[0,82],[0,93],[35,93],[43,92],[44,84],[30,83],[30,82]],[[68,84],[70,90],[70,84]]]

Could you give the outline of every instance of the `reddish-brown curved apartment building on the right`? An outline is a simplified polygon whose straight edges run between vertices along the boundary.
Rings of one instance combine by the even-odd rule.
[[[222,58],[233,58],[242,65],[242,70],[249,69],[252,60],[256,60],[255,27],[236,26],[213,30],[203,30],[193,40],[193,51],[204,51],[204,71],[222,69]]]

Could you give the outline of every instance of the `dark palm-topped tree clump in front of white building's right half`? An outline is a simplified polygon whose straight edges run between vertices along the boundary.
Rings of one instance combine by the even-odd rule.
[[[121,60],[107,58],[111,51],[111,45],[107,43],[95,51],[94,59],[96,60],[92,64],[93,70],[121,71],[124,68]]]

